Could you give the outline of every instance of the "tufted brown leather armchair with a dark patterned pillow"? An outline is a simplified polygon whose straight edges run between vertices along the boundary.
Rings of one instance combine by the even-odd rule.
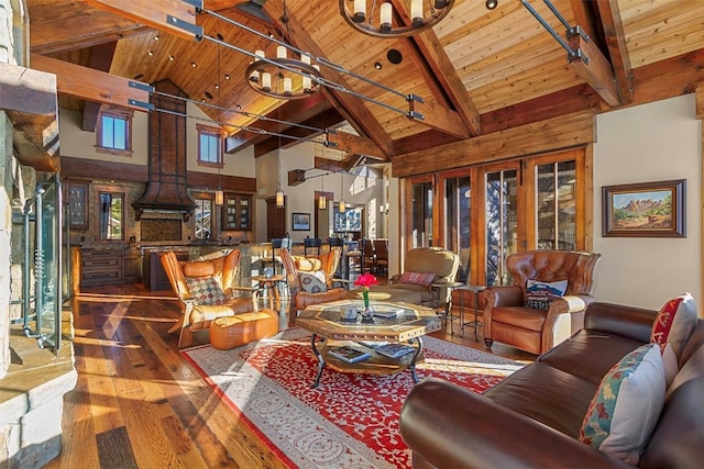
[[[528,250],[506,258],[512,287],[483,291],[484,343],[512,345],[531,354],[543,354],[584,326],[584,310],[591,297],[594,267],[601,254],[574,250]],[[528,281],[566,280],[564,294],[537,304],[529,299]],[[532,283],[532,282],[531,282]],[[564,282],[562,282],[564,284]]]

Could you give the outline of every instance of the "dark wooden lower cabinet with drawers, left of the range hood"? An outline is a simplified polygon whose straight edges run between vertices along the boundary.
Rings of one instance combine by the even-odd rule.
[[[140,281],[139,256],[127,248],[80,249],[80,287]]]

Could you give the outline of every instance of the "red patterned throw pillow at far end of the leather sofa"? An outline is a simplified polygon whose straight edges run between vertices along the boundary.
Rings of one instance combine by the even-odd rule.
[[[672,350],[679,359],[695,326],[696,306],[692,294],[686,292],[664,303],[652,324],[650,342],[672,344]]]

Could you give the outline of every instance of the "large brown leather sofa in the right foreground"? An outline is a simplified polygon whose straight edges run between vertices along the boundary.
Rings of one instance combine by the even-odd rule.
[[[592,303],[585,328],[483,395],[428,379],[408,394],[400,433],[415,468],[628,468],[578,440],[601,379],[650,340],[657,312]],[[702,467],[704,321],[698,320],[638,467]]]

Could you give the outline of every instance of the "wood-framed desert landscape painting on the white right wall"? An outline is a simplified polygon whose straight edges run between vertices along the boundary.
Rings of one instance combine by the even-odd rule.
[[[686,237],[686,179],[602,187],[602,236]]]

